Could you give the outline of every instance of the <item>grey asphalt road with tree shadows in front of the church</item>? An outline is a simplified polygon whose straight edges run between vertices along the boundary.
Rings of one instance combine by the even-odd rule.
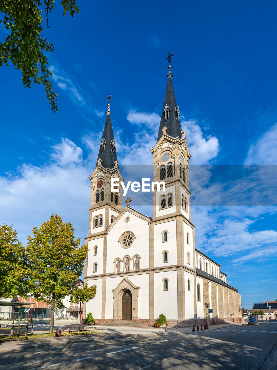
[[[13,344],[1,353],[0,370],[260,370],[276,344],[277,322],[190,334],[66,336]]]

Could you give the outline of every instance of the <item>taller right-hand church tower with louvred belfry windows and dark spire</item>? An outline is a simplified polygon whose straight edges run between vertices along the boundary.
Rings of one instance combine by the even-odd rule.
[[[194,299],[193,290],[195,292],[194,225],[190,217],[188,181],[188,162],[191,155],[185,132],[181,130],[180,110],[174,94],[170,65],[172,55],[167,58],[167,86],[157,144],[151,148],[154,181],[163,181],[166,184],[165,191],[156,187],[153,192],[153,267],[158,264],[155,262],[155,256],[158,259],[162,253],[163,263],[160,267],[165,271],[170,269],[172,275],[173,269],[177,271],[178,320],[184,320],[196,312],[196,307],[193,309],[186,305],[184,297],[187,279],[191,280],[192,285],[191,294],[187,297],[191,295],[191,299]],[[168,275],[169,272],[166,273]]]

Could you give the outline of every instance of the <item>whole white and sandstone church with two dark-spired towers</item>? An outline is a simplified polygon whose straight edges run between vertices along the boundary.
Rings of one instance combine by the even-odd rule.
[[[171,58],[168,59],[170,63]],[[165,191],[153,192],[153,218],[122,209],[121,185],[111,191],[111,179],[123,181],[117,161],[110,112],[110,95],[96,168],[89,177],[89,252],[84,283],[96,287],[84,315],[99,323],[133,321],[153,325],[160,313],[168,324],[238,322],[241,299],[228,285],[221,265],[195,249],[190,216],[188,164],[191,157],[168,66],[166,94],[153,154],[154,181]],[[128,200],[129,198],[127,198]],[[85,316],[83,316],[85,317]]]

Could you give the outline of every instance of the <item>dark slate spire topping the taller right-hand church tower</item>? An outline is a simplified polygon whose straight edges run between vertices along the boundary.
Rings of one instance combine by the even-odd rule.
[[[173,55],[173,54],[172,54]],[[171,73],[171,65],[168,65],[168,80],[166,85],[166,95],[164,96],[164,104],[163,104],[163,111],[161,112],[161,122],[160,128],[158,132],[157,142],[160,140],[161,136],[163,135],[163,127],[167,127],[166,134],[176,138],[181,137],[181,125],[180,125],[180,118],[179,118],[179,108],[176,103],[176,98],[174,94],[174,88],[172,83],[172,73]],[[166,112],[166,108],[169,110]],[[167,118],[168,114],[168,118]]]

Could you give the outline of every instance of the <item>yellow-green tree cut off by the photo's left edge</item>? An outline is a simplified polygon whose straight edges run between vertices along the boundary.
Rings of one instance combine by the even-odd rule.
[[[28,293],[24,247],[12,226],[0,225],[0,297],[9,298]]]

